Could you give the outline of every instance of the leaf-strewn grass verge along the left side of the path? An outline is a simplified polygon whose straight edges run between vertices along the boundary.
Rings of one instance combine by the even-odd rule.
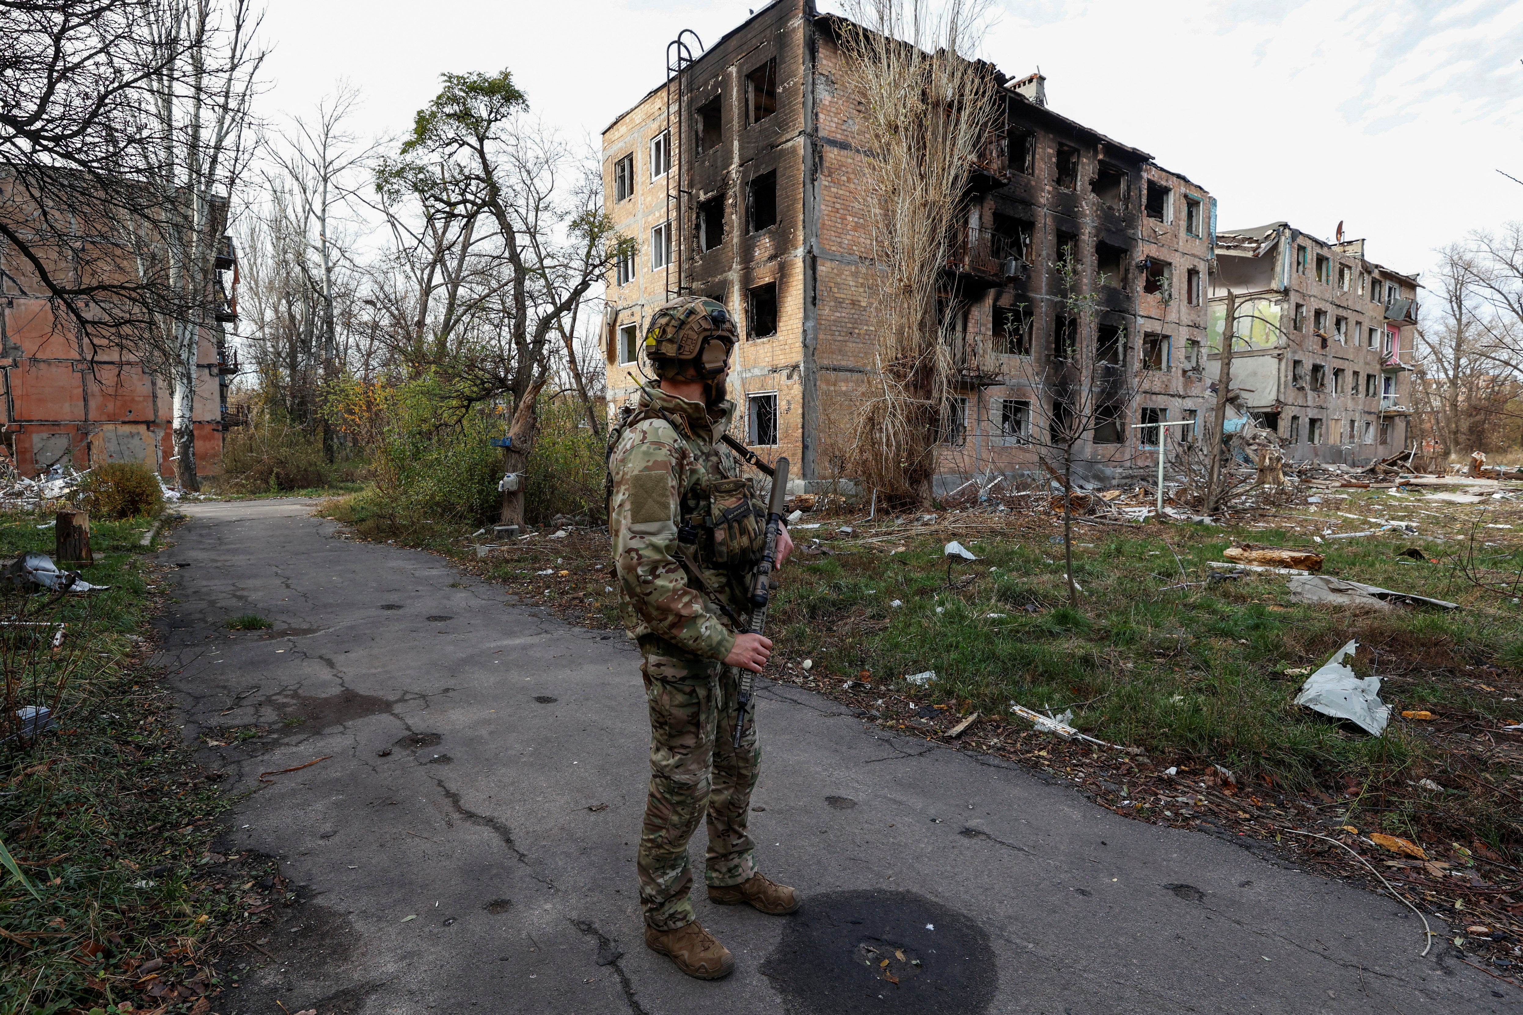
[[[37,520],[0,516],[0,555],[50,551]],[[67,624],[56,654],[9,639],[3,656],[14,695],[53,706],[58,730],[0,747],[0,838],[41,896],[0,875],[0,1012],[157,1007],[134,986],[137,965],[161,959],[174,983],[200,975],[204,947],[241,912],[209,852],[227,802],[142,668],[157,609],[143,528],[91,519],[87,575],[108,589],[0,603],[6,616]]]

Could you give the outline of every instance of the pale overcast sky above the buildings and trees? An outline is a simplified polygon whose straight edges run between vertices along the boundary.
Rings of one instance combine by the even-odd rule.
[[[1523,219],[1523,0],[1020,0],[982,56],[1037,67],[1048,103],[1151,152],[1221,227],[1288,219],[1398,271]],[[509,68],[532,108],[597,143],[663,79],[666,43],[713,43],[762,0],[268,0],[267,117],[346,79],[355,126],[396,134],[442,72]]]

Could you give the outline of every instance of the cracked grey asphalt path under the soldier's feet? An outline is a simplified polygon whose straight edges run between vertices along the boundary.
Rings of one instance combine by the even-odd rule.
[[[158,660],[186,738],[270,726],[200,752],[247,794],[224,843],[279,857],[300,886],[260,930],[263,954],[238,959],[262,968],[218,998],[222,1015],[1523,1010],[1442,940],[1418,957],[1422,927],[1389,898],[778,685],[758,694],[752,835],[804,910],[716,907],[699,889],[736,972],[690,980],[641,940],[634,645],[439,557],[338,539],[311,508],[192,504],[160,554],[180,565]],[[241,613],[274,627],[225,630]],[[702,849],[701,832],[694,872]],[[976,991],[937,978],[950,939],[909,927],[918,913],[966,925]],[[810,943],[816,927],[839,954]],[[902,989],[857,962],[857,940],[924,963]]]

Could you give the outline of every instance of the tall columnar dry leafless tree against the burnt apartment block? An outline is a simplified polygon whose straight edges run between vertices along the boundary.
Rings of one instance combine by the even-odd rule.
[[[970,163],[1002,113],[991,67],[963,53],[982,3],[851,0],[845,82],[860,97],[864,204],[877,266],[871,321],[880,390],[856,420],[851,467],[892,501],[923,499],[949,411],[955,300],[943,292]]]

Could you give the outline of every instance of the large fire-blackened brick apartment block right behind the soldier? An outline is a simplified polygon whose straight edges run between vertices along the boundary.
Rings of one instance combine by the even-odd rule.
[[[670,59],[667,84],[603,132],[606,210],[640,245],[608,280],[611,405],[638,383],[650,313],[678,294],[713,297],[742,333],[734,431],[806,481],[842,473],[874,377],[860,96],[844,84],[842,24],[810,0],[778,0],[707,50],[694,40],[691,59]],[[1051,110],[1040,75],[993,79],[1004,117],[972,167],[941,283],[959,312],[938,487],[1036,469],[1031,437],[1063,411],[1045,377],[1065,348],[1135,396],[1086,434],[1083,472],[1150,470],[1159,429],[1136,426],[1214,403],[1215,199]],[[1065,291],[1094,312],[1075,313]],[[1189,440],[1183,429],[1170,440]]]

